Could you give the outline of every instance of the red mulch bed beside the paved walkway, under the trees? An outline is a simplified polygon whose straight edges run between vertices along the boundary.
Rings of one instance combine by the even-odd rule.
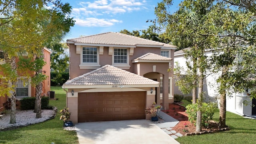
[[[176,120],[180,121],[176,126],[174,126],[174,128],[172,128],[172,130],[175,130],[176,132],[180,132],[183,135],[196,131],[196,126],[194,126],[194,124],[191,124],[188,121],[188,114],[186,114],[185,108],[183,106],[180,106],[179,104],[175,104],[175,103],[169,104],[169,110],[162,110],[162,111],[172,116]],[[217,124],[214,124],[213,127],[215,128],[207,129],[202,127],[202,130],[218,129]]]

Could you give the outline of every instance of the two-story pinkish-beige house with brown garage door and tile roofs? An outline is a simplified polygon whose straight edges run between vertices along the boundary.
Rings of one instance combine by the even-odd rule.
[[[149,119],[153,102],[173,103],[175,46],[118,32],[67,40],[70,80],[63,84],[71,120]]]

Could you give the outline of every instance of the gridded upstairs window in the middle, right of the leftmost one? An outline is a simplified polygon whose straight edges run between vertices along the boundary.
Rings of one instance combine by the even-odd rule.
[[[127,64],[127,49],[114,48],[114,63]]]

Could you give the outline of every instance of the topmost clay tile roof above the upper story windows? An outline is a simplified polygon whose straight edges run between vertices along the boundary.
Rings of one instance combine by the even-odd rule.
[[[136,36],[130,36],[128,34],[122,34],[119,32],[106,32],[102,34],[95,34],[91,36],[83,36],[80,38],[68,39],[67,41],[77,42],[77,43],[86,43],[86,44],[115,44],[115,45],[152,45],[152,46],[163,46],[176,48],[172,44],[165,44],[162,42],[156,42],[153,40],[147,40],[144,38],[139,38]]]

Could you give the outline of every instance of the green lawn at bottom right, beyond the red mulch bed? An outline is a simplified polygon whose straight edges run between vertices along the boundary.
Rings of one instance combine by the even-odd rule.
[[[214,120],[218,122],[219,112],[214,113]],[[229,131],[198,136],[182,136],[176,140],[180,144],[255,144],[256,120],[243,118],[237,114],[227,112],[226,125]]]

